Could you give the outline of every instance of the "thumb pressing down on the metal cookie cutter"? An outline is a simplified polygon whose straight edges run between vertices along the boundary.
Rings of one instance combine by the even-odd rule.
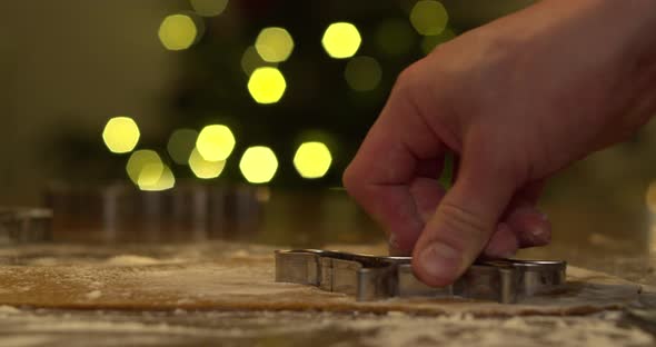
[[[520,186],[507,158],[490,151],[465,148],[454,187],[417,241],[413,268],[430,286],[451,284],[474,262]]]

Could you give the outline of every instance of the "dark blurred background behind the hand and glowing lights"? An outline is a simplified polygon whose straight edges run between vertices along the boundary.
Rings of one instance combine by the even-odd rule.
[[[196,16],[186,0],[2,1],[0,201],[40,205],[53,182],[129,182],[129,153],[109,152],[101,138],[106,122],[116,116],[137,121],[137,149],[158,151],[178,184],[197,179],[168,158],[172,131],[225,123],[237,147],[221,176],[205,185],[243,184],[239,157],[249,146],[266,145],[279,161],[268,187],[308,195],[340,187],[341,171],[396,76],[424,57],[427,42],[447,40],[529,2],[445,1],[446,33],[425,38],[409,21],[414,0],[231,0],[221,14],[209,18]],[[195,18],[203,30],[189,49],[169,51],[158,29],[176,13]],[[382,75],[374,90],[351,90],[344,77],[348,59],[331,59],[322,49],[324,30],[337,21],[359,29],[362,43],[356,57],[379,62]],[[396,28],[405,26],[406,33],[381,41],[380,27],[390,21]],[[286,28],[295,42],[290,58],[278,65],[287,90],[274,105],[252,100],[241,68],[243,52],[266,27]],[[386,52],[380,42],[396,42],[402,50]],[[307,180],[291,161],[297,146],[312,138],[328,145],[334,161],[324,178]],[[545,209],[556,227],[569,230],[566,234],[595,219],[618,239],[642,230],[640,242],[650,247],[649,206],[656,204],[646,197],[656,177],[655,155],[656,126],[650,123],[626,143],[557,176],[546,190]]]

